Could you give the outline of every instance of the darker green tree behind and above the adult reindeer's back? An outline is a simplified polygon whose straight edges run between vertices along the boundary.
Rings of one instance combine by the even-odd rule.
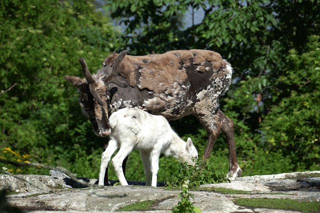
[[[118,18],[126,26],[123,48],[128,48],[132,54],[204,48],[219,52],[231,62],[234,84],[221,100],[220,107],[235,121],[237,153],[242,160],[244,175],[310,168],[310,164],[298,166],[294,154],[282,152],[278,146],[265,146],[265,134],[272,137],[275,132],[271,131],[272,126],[269,127],[270,131],[266,131],[266,126],[271,123],[263,122],[271,110],[281,103],[281,99],[288,96],[284,95],[283,84],[279,82],[287,66],[289,50],[296,49],[299,53],[306,51],[306,38],[319,34],[320,28],[315,27],[320,24],[317,12],[320,5],[317,0],[106,2],[106,10],[111,11],[111,17]],[[177,20],[186,11],[203,11],[203,19],[185,27],[183,22]],[[279,112],[275,115],[282,116]],[[183,129],[182,133],[196,134],[193,138],[198,138],[201,145],[205,143],[203,131],[197,128],[200,125],[194,119],[183,118],[173,124],[175,129]],[[192,129],[186,129],[185,125],[192,126]],[[307,123],[305,125],[308,126]],[[287,131],[281,128],[274,130],[279,134]],[[220,141],[218,139],[214,148],[220,150],[213,153],[215,157],[221,153],[225,155],[226,147]],[[294,138],[290,138],[290,143],[296,143]],[[199,149],[201,152],[202,148]],[[284,146],[284,149],[290,148]],[[313,150],[310,155],[317,156],[317,150],[314,147],[310,149]],[[318,165],[316,162],[315,165]]]

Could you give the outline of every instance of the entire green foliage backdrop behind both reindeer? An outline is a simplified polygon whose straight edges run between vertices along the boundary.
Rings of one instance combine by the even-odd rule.
[[[235,123],[243,176],[320,170],[315,36],[320,4],[315,2],[105,0],[103,11],[94,0],[0,0],[0,158],[58,165],[97,178],[103,139],[93,134],[76,89],[62,76],[82,75],[80,57],[94,72],[113,50],[144,55],[199,48],[221,53],[234,68],[220,108]],[[195,13],[203,15],[198,22],[185,18]],[[121,22],[123,33],[111,21]],[[180,136],[193,139],[201,156],[207,138],[196,118],[171,124]],[[227,172],[223,137],[209,160]],[[141,165],[139,154],[132,153],[128,180],[144,180]],[[2,166],[14,174],[48,173]],[[178,166],[172,158],[160,158],[158,180]],[[109,174],[116,179],[112,168]]]

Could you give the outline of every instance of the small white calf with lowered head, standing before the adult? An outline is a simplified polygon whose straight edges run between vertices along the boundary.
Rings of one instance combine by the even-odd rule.
[[[197,159],[198,153],[191,139],[188,138],[186,143],[182,141],[162,116],[136,108],[124,108],[111,114],[109,124],[110,141],[101,157],[99,186],[103,186],[105,169],[118,148],[112,165],[121,185],[128,185],[121,165],[133,149],[141,152],[146,186],[152,187],[156,187],[160,153],[176,159],[180,157],[190,165],[194,165],[192,158]]]

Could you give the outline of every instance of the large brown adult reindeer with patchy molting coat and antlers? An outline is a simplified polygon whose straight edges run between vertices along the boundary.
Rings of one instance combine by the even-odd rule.
[[[131,56],[123,50],[108,56],[102,68],[93,75],[83,58],[79,62],[85,78],[64,78],[78,89],[78,102],[97,136],[110,134],[108,116],[121,108],[143,109],[167,120],[193,114],[208,136],[202,158],[209,158],[222,131],[229,151],[227,176],[230,179],[241,176],[234,143],[234,123],[219,109],[219,97],[228,89],[232,76],[230,64],[220,54],[191,49]]]

